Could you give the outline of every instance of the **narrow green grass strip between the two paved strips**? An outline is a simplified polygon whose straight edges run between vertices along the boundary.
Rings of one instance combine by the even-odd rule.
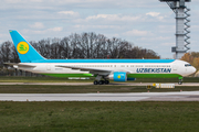
[[[199,87],[176,87],[175,89],[156,89],[150,92],[196,91]],[[0,85],[0,94],[90,94],[90,92],[147,92],[146,86],[34,86]]]

